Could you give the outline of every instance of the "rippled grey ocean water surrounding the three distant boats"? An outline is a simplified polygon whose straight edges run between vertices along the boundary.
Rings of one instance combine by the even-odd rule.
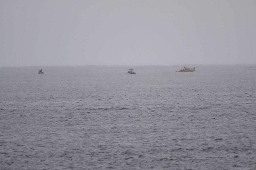
[[[182,67],[1,67],[0,169],[256,169],[255,65]]]

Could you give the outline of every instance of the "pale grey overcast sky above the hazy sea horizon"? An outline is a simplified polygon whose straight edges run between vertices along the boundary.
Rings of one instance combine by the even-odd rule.
[[[256,64],[255,0],[1,0],[0,67]]]

